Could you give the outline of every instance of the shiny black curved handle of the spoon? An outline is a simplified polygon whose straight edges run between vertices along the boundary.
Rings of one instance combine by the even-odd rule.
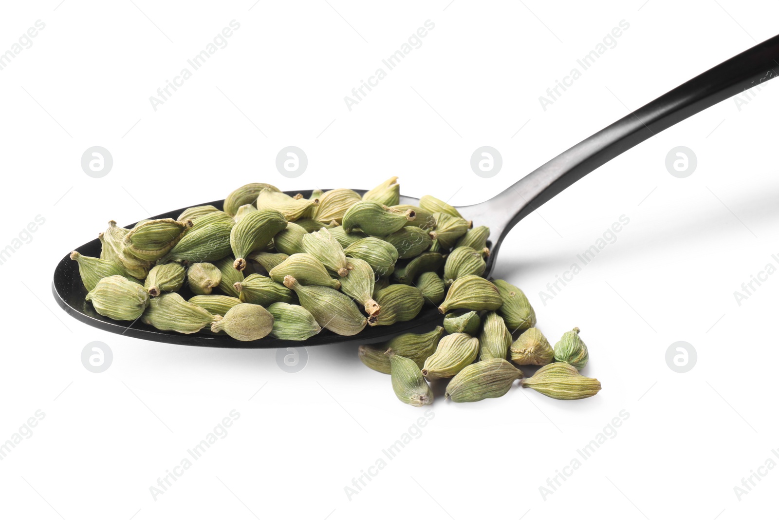
[[[755,45],[626,115],[530,172],[509,189],[467,207],[491,227],[490,264],[513,226],[568,186],[654,134],[779,74],[779,35]],[[491,270],[492,266],[488,266]]]

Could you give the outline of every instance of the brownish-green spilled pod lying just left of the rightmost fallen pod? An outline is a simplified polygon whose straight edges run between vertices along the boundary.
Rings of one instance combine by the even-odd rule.
[[[506,359],[485,359],[460,370],[446,385],[446,398],[454,402],[499,398],[520,377],[523,377],[522,370]]]

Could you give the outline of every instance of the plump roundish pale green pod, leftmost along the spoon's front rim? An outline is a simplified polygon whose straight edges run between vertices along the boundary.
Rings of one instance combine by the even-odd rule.
[[[149,294],[143,285],[129,281],[120,274],[107,276],[86,294],[86,301],[100,316],[112,320],[137,320],[149,305]]]

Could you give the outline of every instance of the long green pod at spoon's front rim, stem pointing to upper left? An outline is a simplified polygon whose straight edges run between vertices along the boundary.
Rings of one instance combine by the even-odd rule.
[[[351,298],[342,292],[321,285],[301,285],[292,276],[284,277],[284,285],[298,293],[301,306],[328,331],[354,336],[368,323]]]

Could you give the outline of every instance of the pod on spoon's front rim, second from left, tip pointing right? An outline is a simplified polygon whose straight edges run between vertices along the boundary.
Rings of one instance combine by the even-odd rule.
[[[220,318],[203,307],[196,306],[182,298],[178,292],[166,292],[150,299],[141,321],[160,331],[175,331],[194,334]]]

